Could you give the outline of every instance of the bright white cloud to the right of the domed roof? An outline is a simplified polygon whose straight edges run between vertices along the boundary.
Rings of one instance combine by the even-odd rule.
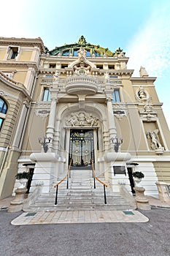
[[[170,64],[170,2],[162,2],[152,10],[147,23],[136,33],[126,52],[130,56],[129,67],[135,67],[138,75],[144,66],[150,75],[161,77],[169,71]]]

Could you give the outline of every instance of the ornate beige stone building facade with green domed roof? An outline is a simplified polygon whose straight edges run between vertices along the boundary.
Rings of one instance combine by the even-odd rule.
[[[18,187],[15,175],[32,173],[29,191],[48,193],[69,162],[95,163],[118,192],[133,190],[134,170],[144,173],[147,195],[155,181],[170,182],[169,128],[155,91],[156,78],[127,68],[118,48],[77,43],[45,48],[42,39],[0,37],[0,195]],[[45,137],[44,137],[45,136]]]

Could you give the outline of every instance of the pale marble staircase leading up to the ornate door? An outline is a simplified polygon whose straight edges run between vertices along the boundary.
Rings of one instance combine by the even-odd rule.
[[[61,177],[58,178],[58,181]],[[101,178],[102,180],[102,178]],[[104,181],[104,180],[102,180]],[[24,211],[93,211],[93,210],[130,210],[131,206],[119,194],[106,187],[107,204],[104,202],[104,186],[94,180],[92,170],[72,170],[69,178],[69,189],[66,181],[58,186],[58,201],[55,205],[56,189],[51,187],[48,194],[42,194]]]

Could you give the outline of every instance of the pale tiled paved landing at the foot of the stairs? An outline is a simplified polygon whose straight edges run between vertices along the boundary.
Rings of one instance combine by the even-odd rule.
[[[45,211],[25,212],[12,225],[73,224],[102,222],[148,222],[139,211]]]

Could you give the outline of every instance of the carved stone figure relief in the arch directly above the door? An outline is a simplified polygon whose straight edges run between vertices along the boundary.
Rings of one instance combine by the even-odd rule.
[[[66,118],[66,127],[97,127],[98,118],[84,111],[74,112]]]

